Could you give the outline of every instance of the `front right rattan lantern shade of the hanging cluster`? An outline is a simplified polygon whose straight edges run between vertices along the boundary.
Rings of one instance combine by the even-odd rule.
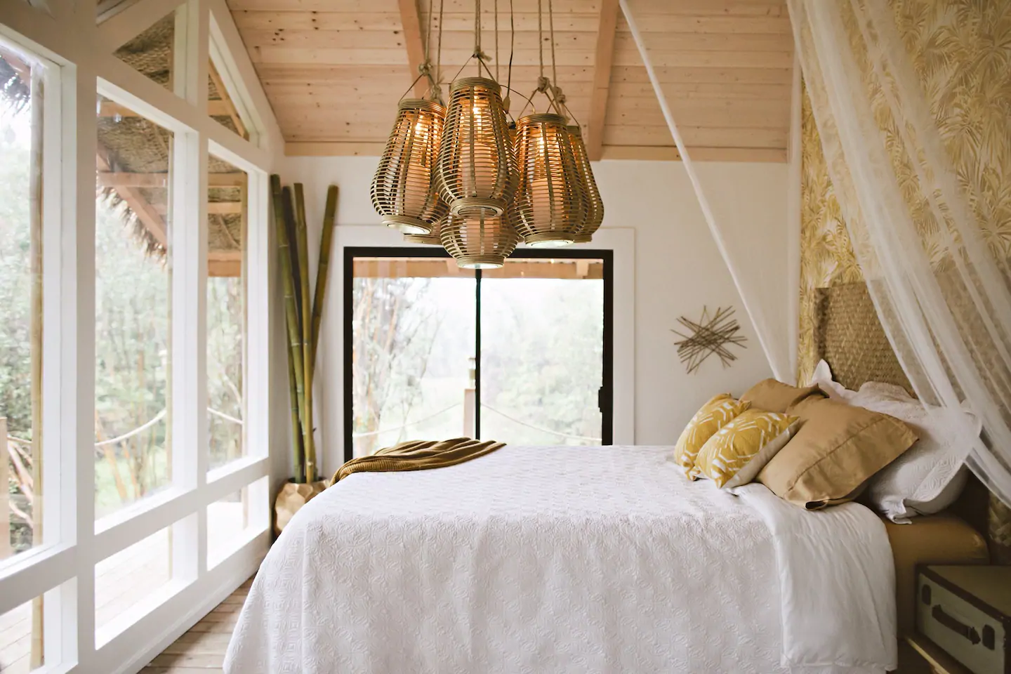
[[[537,248],[568,246],[585,221],[586,203],[565,118],[521,117],[516,147],[520,181],[513,205],[519,233]]]

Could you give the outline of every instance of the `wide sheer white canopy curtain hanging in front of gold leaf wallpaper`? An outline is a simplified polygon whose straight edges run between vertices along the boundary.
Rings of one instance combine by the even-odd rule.
[[[955,171],[887,0],[788,2],[829,176],[882,324],[921,400],[981,417],[967,463],[1011,504],[1011,274],[999,231],[1008,223],[996,221],[994,203],[1006,196],[991,189],[987,158]],[[1006,143],[1011,131],[1002,132]]]

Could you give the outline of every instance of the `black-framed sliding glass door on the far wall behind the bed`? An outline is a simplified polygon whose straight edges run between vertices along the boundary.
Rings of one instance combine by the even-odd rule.
[[[553,256],[553,257],[552,257]],[[612,442],[610,251],[345,249],[345,457],[411,439]]]

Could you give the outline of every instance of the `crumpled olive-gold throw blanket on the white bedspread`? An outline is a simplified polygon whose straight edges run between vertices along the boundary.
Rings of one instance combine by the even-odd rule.
[[[367,457],[358,457],[341,466],[331,484],[336,484],[352,473],[388,473],[390,471],[420,471],[462,464],[494,452],[505,443],[478,442],[472,438],[454,438],[442,442],[413,440],[379,450]]]

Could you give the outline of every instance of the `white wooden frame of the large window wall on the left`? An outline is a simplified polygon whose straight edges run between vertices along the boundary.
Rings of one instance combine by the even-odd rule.
[[[45,597],[40,672],[136,671],[259,566],[270,543],[269,172],[283,139],[224,0],[132,0],[97,16],[96,0],[0,4],[0,40],[45,65],[43,99],[42,545],[0,562],[0,614]],[[113,52],[176,11],[173,90]],[[96,20],[97,19],[97,20]],[[99,22],[100,21],[100,22]],[[250,140],[207,115],[211,53]],[[94,518],[95,97],[116,100],[173,131],[173,484]],[[207,158],[248,180],[246,456],[207,470]],[[82,459],[82,457],[84,457]],[[207,506],[249,488],[250,528],[208,568]],[[173,581],[117,634],[96,646],[95,565],[166,526]],[[141,602],[145,604],[145,601]]]

